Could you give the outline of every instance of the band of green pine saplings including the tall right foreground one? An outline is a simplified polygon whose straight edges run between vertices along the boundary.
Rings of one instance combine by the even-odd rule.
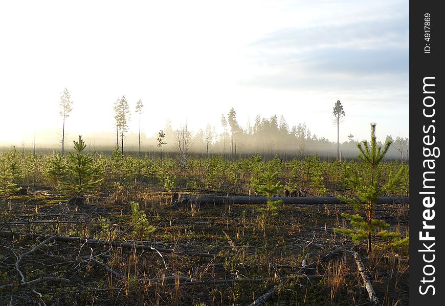
[[[283,190],[306,196],[337,196],[353,207],[357,214],[342,214],[352,229],[336,232],[349,235],[355,242],[379,236],[393,245],[404,245],[397,233],[387,231],[389,224],[374,218],[377,199],[384,195],[408,195],[408,165],[385,163],[383,158],[390,142],[379,145],[375,124],[371,124],[371,141],[358,145],[355,161],[320,160],[319,156],[283,161],[279,157],[264,161],[258,154],[247,159],[226,161],[220,155],[190,158],[186,167],[174,158],[149,159],[123,156],[117,147],[111,156],[85,151],[79,136],[74,151],[64,157],[17,154],[15,148],[0,157],[0,193],[11,194],[26,185],[52,185],[58,192],[70,195],[100,193],[109,188],[137,188],[145,184],[171,192],[177,188],[236,191],[249,195],[265,195],[268,202],[259,208],[265,217],[278,214],[281,205],[272,197]],[[358,198],[351,198],[357,196]]]

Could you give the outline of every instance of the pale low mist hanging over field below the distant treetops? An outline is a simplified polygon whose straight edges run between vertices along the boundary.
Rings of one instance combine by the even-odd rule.
[[[331,124],[329,128],[335,129]],[[377,126],[377,129],[379,126]],[[175,144],[176,131],[173,130],[163,130],[166,132],[165,142],[163,146],[164,152],[166,154],[171,154],[172,156],[176,153]],[[88,150],[96,149],[104,154],[110,154],[110,152],[116,148],[116,133],[83,133],[81,134],[85,143],[87,144]],[[73,150],[73,140],[78,139],[79,134],[69,133],[65,134],[65,150]],[[206,155],[207,146],[204,131],[198,131],[198,133],[192,133],[192,146],[190,152],[197,155]],[[141,133],[141,157],[155,157],[160,155],[160,148],[158,147],[157,141],[158,135],[146,135]],[[265,159],[273,158],[278,155],[280,158],[294,158],[303,157],[305,155],[314,155],[315,152],[324,159],[335,159],[337,151],[337,142],[332,140],[327,140],[323,137],[318,138],[316,135],[316,140],[312,136],[311,138],[295,137],[292,133],[283,134],[278,130],[275,139],[270,135],[262,134],[243,134],[238,136],[236,142],[236,157],[248,158],[256,153],[261,155]],[[43,135],[36,135],[36,152],[37,154],[47,154],[49,152],[58,152],[61,150],[61,136],[55,131],[47,132]],[[129,133],[125,135],[124,139],[124,152],[127,155],[137,156],[138,153],[138,139],[139,135],[136,133]],[[369,137],[367,138],[369,140]],[[390,138],[388,138],[390,139]],[[386,138],[379,139],[377,141],[384,142]],[[409,139],[402,137],[392,137],[393,143],[388,150],[386,159],[395,160],[409,160]],[[357,143],[361,141],[359,139],[352,139],[351,141],[340,142],[340,152],[342,159],[355,159],[359,150],[357,149]],[[120,142],[120,138],[119,138]],[[0,150],[10,150],[14,146],[18,150],[26,150],[32,152],[34,150],[33,142],[10,142],[1,143]],[[224,140],[224,135],[214,135],[212,141],[209,143],[209,154],[211,155],[222,155],[225,152],[225,157],[235,157],[235,147],[233,147],[233,154],[231,156],[231,139],[229,133],[226,134],[226,139]],[[119,145],[120,147],[120,145]],[[403,155],[401,152],[403,152]]]

